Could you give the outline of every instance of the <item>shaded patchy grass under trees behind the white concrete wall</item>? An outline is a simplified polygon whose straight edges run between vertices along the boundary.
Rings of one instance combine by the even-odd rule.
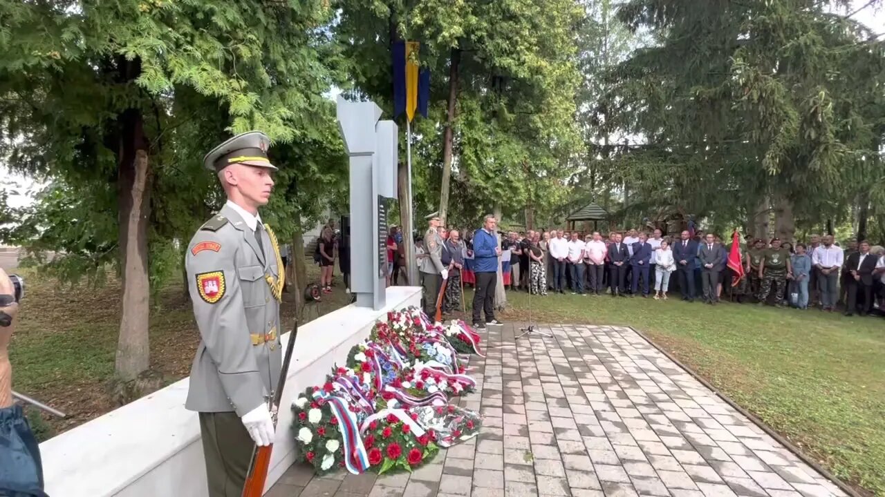
[[[319,278],[319,269],[308,265],[308,279]],[[61,410],[67,417],[37,416],[38,438],[44,440],[115,409],[108,386],[113,376],[120,315],[119,281],[101,288],[59,287],[35,271],[19,270],[27,280],[27,296],[12,335],[10,361],[12,388]],[[341,277],[333,294],[319,305],[320,314],[347,302]],[[294,291],[294,290],[293,290]],[[282,323],[295,320],[294,294],[283,294]],[[162,374],[166,385],[190,373],[199,333],[191,304],[181,283],[163,288],[150,313],[150,367]],[[304,320],[316,317],[311,310]]]

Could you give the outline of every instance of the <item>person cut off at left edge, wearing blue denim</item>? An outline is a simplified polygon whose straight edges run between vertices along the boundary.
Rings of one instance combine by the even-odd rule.
[[[0,496],[45,497],[40,448],[21,406],[12,401],[8,348],[21,293],[0,269]]]

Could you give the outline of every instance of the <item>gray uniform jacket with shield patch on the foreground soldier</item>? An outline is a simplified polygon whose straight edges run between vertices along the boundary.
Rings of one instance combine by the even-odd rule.
[[[266,401],[280,377],[280,304],[266,274],[279,278],[272,243],[262,245],[229,206],[207,221],[188,246],[185,264],[200,345],[190,371],[185,408],[235,411]]]

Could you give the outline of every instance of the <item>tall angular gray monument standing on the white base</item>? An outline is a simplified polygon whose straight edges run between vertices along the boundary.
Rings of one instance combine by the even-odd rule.
[[[342,96],[337,117],[350,156],[350,292],[359,307],[381,310],[389,271],[384,200],[396,197],[396,123],[379,120],[375,103],[348,102]]]

